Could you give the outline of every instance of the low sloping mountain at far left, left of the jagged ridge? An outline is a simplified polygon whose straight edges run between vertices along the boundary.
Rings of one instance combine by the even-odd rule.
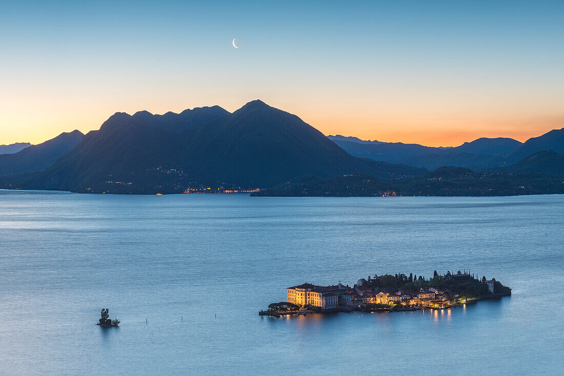
[[[0,176],[36,172],[49,167],[60,156],[67,154],[84,135],[73,130],[38,145],[32,145],[14,154],[0,155]]]

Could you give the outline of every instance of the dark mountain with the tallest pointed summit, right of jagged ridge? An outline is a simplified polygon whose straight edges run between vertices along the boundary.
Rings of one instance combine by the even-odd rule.
[[[265,187],[301,175],[371,172],[380,178],[417,173],[407,167],[351,158],[296,115],[253,100],[231,116],[188,132],[187,168],[204,181]],[[211,174],[210,172],[214,173]]]

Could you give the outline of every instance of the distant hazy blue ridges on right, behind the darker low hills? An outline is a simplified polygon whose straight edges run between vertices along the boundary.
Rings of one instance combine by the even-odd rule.
[[[512,138],[478,138],[460,146],[442,148],[401,142],[373,143],[341,135],[328,138],[354,156],[429,170],[454,166],[483,171],[515,163],[537,151],[564,153],[564,128],[530,138],[525,143]]]

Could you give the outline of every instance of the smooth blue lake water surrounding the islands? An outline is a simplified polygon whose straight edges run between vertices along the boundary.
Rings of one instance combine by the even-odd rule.
[[[564,195],[0,191],[2,374],[561,374]],[[442,312],[259,317],[303,282],[470,269]],[[100,309],[119,328],[94,325]]]

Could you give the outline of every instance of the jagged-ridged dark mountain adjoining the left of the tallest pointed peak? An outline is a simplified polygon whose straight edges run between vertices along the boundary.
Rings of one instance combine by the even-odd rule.
[[[116,112],[57,163],[19,185],[94,193],[151,193],[179,180],[169,169],[178,168],[184,133],[226,114],[229,112],[218,106],[165,115]]]

